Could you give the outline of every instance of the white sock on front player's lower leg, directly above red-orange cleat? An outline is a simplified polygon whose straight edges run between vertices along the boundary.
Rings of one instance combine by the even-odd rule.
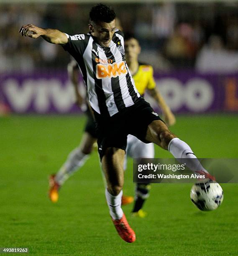
[[[120,220],[123,216],[123,210],[121,208],[122,190],[117,196],[111,195],[107,189],[105,189],[105,195],[107,199],[107,205],[109,207],[110,215],[113,220]]]

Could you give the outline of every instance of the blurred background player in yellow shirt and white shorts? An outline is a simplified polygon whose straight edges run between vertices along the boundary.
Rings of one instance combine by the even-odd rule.
[[[169,106],[164,101],[159,90],[156,88],[156,83],[153,77],[153,67],[148,64],[143,64],[138,61],[138,56],[141,53],[141,47],[138,40],[131,34],[124,37],[126,62],[133,76],[138,92],[143,96],[145,92],[156,101],[159,108],[162,110],[164,120],[168,126],[174,125],[175,117]],[[133,159],[154,158],[154,144],[143,143],[135,136],[129,134],[127,136],[126,156],[131,156]],[[126,168],[126,157],[124,169]],[[135,189],[135,203],[133,207],[133,215],[145,217],[146,212],[141,208],[145,200],[149,196],[150,184],[138,183]]]

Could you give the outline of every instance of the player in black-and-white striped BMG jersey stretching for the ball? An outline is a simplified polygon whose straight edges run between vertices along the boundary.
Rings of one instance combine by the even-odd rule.
[[[62,45],[79,64],[96,120],[98,152],[107,181],[107,205],[124,241],[136,240],[121,208],[128,134],[145,143],[156,143],[176,159],[187,159],[189,169],[211,177],[187,143],[169,131],[136,89],[125,61],[124,38],[116,29],[113,8],[104,4],[93,6],[87,34],[69,36],[57,29],[31,24],[23,25],[19,32],[22,36],[41,36],[49,43]]]

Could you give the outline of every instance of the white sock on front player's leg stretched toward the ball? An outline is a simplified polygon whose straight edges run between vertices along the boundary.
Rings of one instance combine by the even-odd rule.
[[[171,139],[171,141],[169,142],[168,151],[174,156],[175,159],[180,162],[180,159],[183,159],[183,162],[184,159],[186,159],[186,166],[193,172],[207,172],[207,170],[204,169],[189,145],[186,142],[181,141],[179,138]]]

